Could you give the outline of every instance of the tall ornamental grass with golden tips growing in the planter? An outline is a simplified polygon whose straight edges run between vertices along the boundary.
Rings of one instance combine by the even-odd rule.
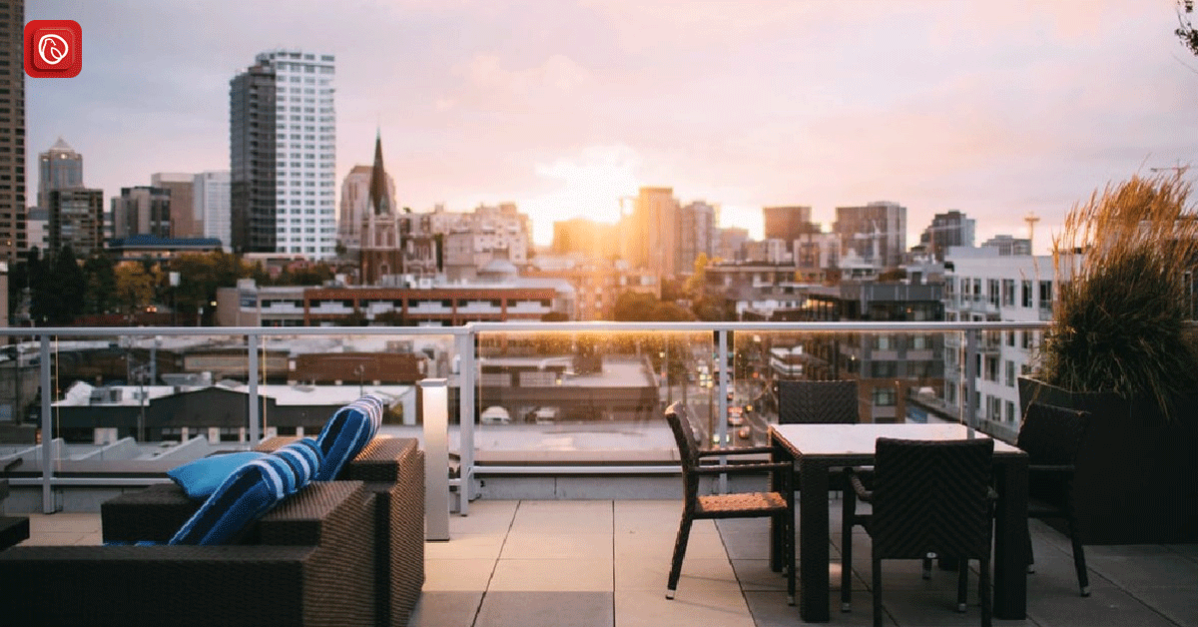
[[[1143,398],[1166,420],[1198,391],[1198,218],[1179,171],[1132,176],[1075,205],[1053,236],[1058,297],[1039,376],[1075,392]]]

